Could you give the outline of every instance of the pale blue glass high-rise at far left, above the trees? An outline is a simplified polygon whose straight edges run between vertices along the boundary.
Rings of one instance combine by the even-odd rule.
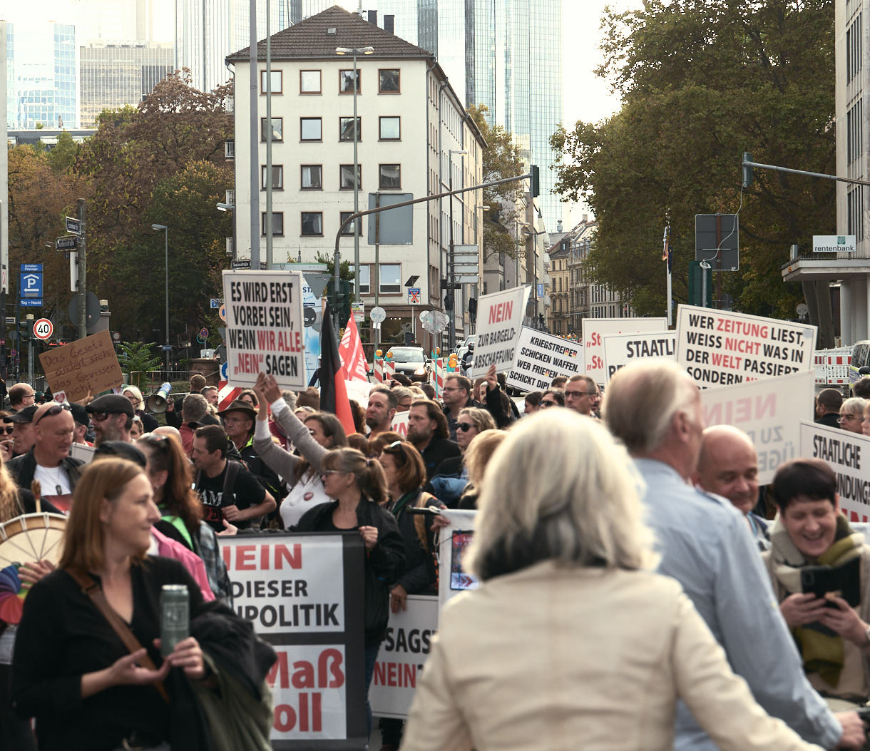
[[[78,128],[78,46],[70,23],[6,24],[6,122]]]

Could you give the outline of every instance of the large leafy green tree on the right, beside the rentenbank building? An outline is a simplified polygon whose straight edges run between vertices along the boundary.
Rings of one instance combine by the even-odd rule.
[[[641,315],[665,309],[662,231],[673,232],[674,298],[687,296],[694,215],[740,211],[740,272],[723,273],[735,308],[793,317],[800,285],[780,265],[793,243],[833,231],[824,180],[756,171],[740,157],[834,170],[833,0],[647,0],[608,10],[599,75],[622,97],[603,123],[559,128],[556,191],[599,222],[588,268]]]

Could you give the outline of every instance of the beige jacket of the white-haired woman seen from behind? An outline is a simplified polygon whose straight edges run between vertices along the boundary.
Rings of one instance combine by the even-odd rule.
[[[677,581],[541,563],[445,606],[402,749],[664,751],[678,698],[723,751],[819,748],[755,703]]]

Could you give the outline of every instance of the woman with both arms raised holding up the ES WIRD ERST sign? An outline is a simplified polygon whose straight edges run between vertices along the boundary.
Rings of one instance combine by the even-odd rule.
[[[329,500],[320,478],[322,462],[332,448],[347,446],[347,436],[338,418],[328,412],[308,413],[300,422],[284,401],[274,376],[260,373],[255,388],[259,412],[254,451],[290,487],[279,509],[286,528],[296,524],[308,509]],[[273,418],[301,456],[285,451],[272,440],[267,423],[270,407]]]

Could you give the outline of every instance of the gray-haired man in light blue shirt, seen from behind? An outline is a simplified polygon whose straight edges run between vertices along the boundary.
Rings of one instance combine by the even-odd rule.
[[[703,428],[693,379],[673,361],[626,365],[607,386],[603,412],[646,481],[644,502],[659,540],[659,572],[682,584],[734,673],[768,714],[805,741],[862,748],[858,714],[832,714],[806,680],[746,520],[725,499],[690,483]],[[682,702],[673,748],[717,748]]]

